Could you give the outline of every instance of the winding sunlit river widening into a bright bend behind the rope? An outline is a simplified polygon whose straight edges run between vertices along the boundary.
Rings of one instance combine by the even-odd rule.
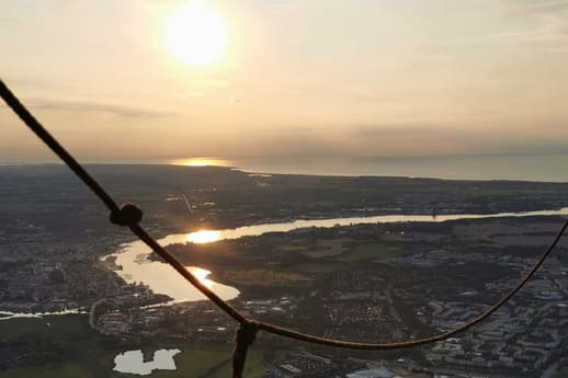
[[[393,224],[404,221],[427,221],[441,222],[457,219],[481,219],[481,218],[501,218],[501,217],[531,217],[531,216],[566,216],[568,207],[559,210],[542,210],[525,213],[497,213],[497,214],[456,214],[456,215],[382,215],[372,217],[350,217],[333,219],[313,219],[313,220],[294,220],[281,224],[262,224],[254,226],[245,226],[235,229],[224,230],[200,230],[190,233],[170,234],[158,240],[161,245],[173,243],[208,243],[225,239],[238,239],[241,237],[261,236],[266,232],[287,232],[306,227],[330,228],[334,226],[349,226],[361,224]],[[122,248],[110,256],[116,257],[115,263],[122,266],[122,270],[115,271],[127,283],[145,283],[155,293],[166,294],[174,301],[194,301],[205,299],[197,289],[182,278],[171,266],[159,261],[148,260],[151,250],[141,241],[123,244]],[[207,278],[209,271],[201,267],[188,266],[203,283],[205,283],[213,291],[225,300],[236,298],[239,290],[235,287],[221,285]]]

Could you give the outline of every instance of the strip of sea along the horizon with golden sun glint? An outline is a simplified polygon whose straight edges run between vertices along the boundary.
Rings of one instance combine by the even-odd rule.
[[[462,154],[431,157],[167,157],[80,159],[88,163],[213,164],[255,173],[344,176],[407,176],[448,180],[520,180],[568,182],[568,153]],[[42,163],[59,163],[54,157]],[[0,160],[0,165],[37,163],[25,158]]]

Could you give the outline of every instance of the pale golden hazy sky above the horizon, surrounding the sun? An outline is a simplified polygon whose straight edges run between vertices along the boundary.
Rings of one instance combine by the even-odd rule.
[[[568,151],[568,1],[211,1],[211,67],[166,47],[183,2],[2,0],[0,77],[90,161]]]

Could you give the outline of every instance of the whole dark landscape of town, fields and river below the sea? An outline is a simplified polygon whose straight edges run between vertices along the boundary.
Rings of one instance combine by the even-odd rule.
[[[144,227],[183,264],[201,268],[206,285],[229,287],[231,305],[246,316],[343,340],[416,339],[472,319],[519,280],[564,222],[558,211],[511,213],[568,207],[568,183],[252,174],[192,164],[86,167],[118,203],[138,204]],[[147,374],[156,356],[170,353],[167,369],[149,378],[229,376],[235,322],[208,301],[181,301],[191,296],[188,285],[135,248],[127,229],[110,225],[106,208],[66,167],[0,167],[0,377],[120,378]],[[422,220],[367,222],[371,216]],[[266,227],[337,218],[352,222]],[[239,227],[269,231],[190,238]],[[564,239],[508,306],[447,342],[377,353],[263,333],[243,377],[302,370],[351,378],[371,369],[405,378],[565,378],[567,252]],[[180,290],[170,291],[175,285]]]

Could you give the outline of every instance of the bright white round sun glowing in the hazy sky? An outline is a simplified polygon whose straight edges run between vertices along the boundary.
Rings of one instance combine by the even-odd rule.
[[[220,61],[227,43],[225,20],[204,1],[190,1],[166,20],[168,50],[188,65],[206,67]]]

